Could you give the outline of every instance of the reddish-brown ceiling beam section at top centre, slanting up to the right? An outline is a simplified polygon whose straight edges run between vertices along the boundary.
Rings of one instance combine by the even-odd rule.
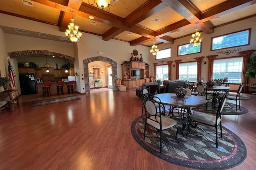
[[[134,10],[131,14],[129,14],[125,19],[125,26],[132,27],[139,22],[145,20],[146,18],[156,14],[160,10],[164,9],[167,5],[162,3],[161,0],[148,0],[142,6]]]

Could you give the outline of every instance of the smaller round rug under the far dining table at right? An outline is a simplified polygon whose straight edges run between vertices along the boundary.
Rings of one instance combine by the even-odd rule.
[[[216,114],[218,108],[213,108],[211,103],[212,101],[208,102],[207,110],[206,110],[206,107],[202,105],[202,106],[194,107],[194,111]],[[246,113],[248,113],[248,109],[246,109],[245,107],[240,106],[240,109],[239,109],[239,106],[238,106],[236,111],[236,104],[226,102],[226,105],[222,110],[221,114],[222,115],[243,115]]]

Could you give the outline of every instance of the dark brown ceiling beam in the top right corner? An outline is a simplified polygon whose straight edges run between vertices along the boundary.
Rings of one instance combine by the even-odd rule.
[[[202,22],[206,22],[218,16],[222,16],[230,12],[234,12],[236,10],[245,8],[255,3],[256,3],[256,0],[227,0],[222,2],[221,4],[218,4],[210,8],[209,10],[202,12],[200,16],[200,20]]]

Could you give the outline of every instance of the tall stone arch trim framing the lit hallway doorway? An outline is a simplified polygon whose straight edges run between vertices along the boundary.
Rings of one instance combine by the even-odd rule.
[[[116,61],[103,57],[103,56],[97,56],[97,57],[90,57],[87,59],[84,59],[84,85],[85,85],[85,93],[90,94],[90,82],[89,82],[89,68],[88,63],[94,62],[94,61],[103,61],[106,63],[111,64],[112,66],[112,83],[113,83],[113,90],[117,90],[116,86],[116,79],[117,79],[117,63]]]

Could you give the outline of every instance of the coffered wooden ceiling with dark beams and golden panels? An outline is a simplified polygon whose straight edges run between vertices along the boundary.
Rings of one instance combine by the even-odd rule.
[[[73,18],[80,32],[102,36],[104,41],[130,42],[132,46],[151,46],[153,38],[156,44],[172,44],[193,34],[196,22],[203,36],[213,33],[216,27],[256,16],[256,0],[118,0],[116,6],[110,6],[110,12],[97,11],[96,4],[90,5],[88,0],[25,1],[32,6],[22,0],[0,0],[0,12],[59,26],[64,37],[72,18],[70,10],[74,10]],[[94,0],[89,1],[92,4]],[[154,22],[156,19],[159,21]],[[14,28],[0,27],[6,33],[22,35]],[[31,31],[26,36],[43,38]],[[65,41],[54,35],[45,39]]]

